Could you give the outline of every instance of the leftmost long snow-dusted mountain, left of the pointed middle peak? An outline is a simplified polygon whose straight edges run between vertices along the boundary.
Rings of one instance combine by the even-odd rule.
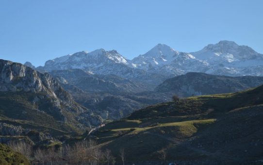
[[[116,50],[106,51],[97,49],[91,52],[81,51],[72,55],[66,55],[45,63],[45,66],[37,67],[40,71],[82,69],[86,72],[100,75],[114,74],[122,78],[128,78],[135,82],[144,82],[148,89],[163,82],[166,76],[156,73],[148,73],[146,70],[130,67],[130,60],[123,57]]]

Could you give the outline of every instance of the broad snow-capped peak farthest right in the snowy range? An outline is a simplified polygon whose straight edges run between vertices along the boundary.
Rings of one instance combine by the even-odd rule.
[[[263,76],[263,54],[248,46],[239,46],[233,41],[209,44],[191,54],[208,64],[206,73]]]

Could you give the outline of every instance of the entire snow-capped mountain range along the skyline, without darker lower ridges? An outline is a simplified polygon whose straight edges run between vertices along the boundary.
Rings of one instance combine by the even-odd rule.
[[[27,63],[27,66],[33,67]],[[263,54],[232,41],[209,44],[197,52],[179,52],[158,44],[143,55],[128,60],[116,50],[81,51],[49,60],[36,67],[41,72],[82,69],[100,75],[114,74],[141,82],[149,90],[167,78],[188,72],[227,76],[263,76]]]

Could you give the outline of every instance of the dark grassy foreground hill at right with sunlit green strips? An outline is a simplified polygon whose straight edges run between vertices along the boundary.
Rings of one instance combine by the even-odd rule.
[[[129,162],[261,164],[263,86],[244,92],[191,97],[132,113],[95,133],[102,148]],[[153,163],[154,164],[154,163]]]

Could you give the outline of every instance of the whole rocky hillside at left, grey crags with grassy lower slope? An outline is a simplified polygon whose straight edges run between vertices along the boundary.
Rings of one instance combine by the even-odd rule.
[[[45,123],[31,116],[42,114],[42,117],[76,129],[98,125],[102,121],[91,110],[76,103],[48,73],[42,74],[11,61],[0,60],[0,102],[1,115],[14,119]],[[17,106],[12,108],[14,105]]]

